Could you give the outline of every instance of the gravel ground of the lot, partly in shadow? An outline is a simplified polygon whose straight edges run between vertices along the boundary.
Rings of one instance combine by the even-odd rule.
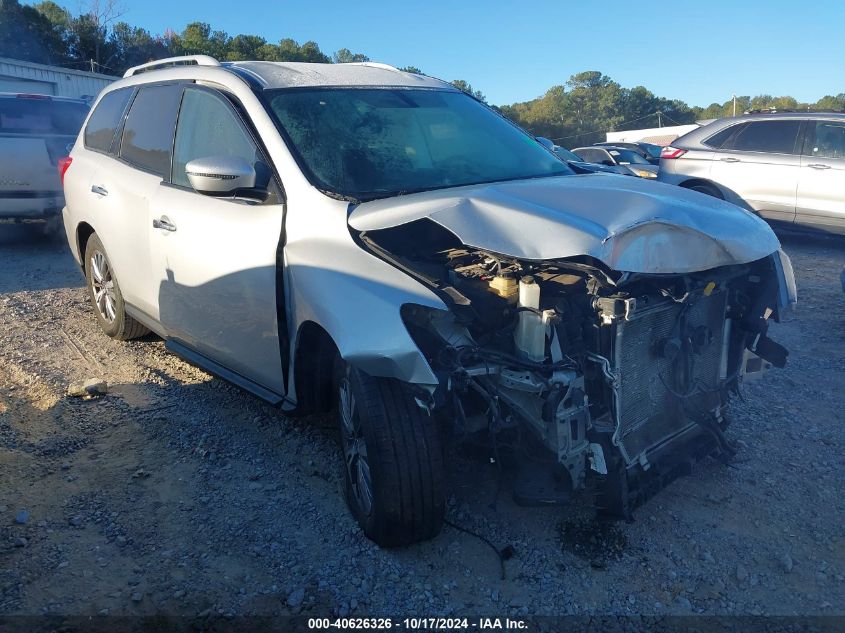
[[[788,367],[744,388],[740,453],[630,524],[498,496],[449,459],[447,526],[380,550],[347,513],[333,423],[290,420],[98,329],[67,247],[0,225],[0,614],[845,614],[845,241],[784,237]],[[67,386],[108,381],[108,395]]]

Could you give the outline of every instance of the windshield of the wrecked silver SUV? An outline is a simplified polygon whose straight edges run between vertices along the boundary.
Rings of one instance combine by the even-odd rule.
[[[312,183],[357,200],[572,173],[462,92],[278,90],[270,109]]]

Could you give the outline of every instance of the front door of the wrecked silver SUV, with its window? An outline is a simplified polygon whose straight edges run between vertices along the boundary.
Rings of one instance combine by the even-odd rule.
[[[269,164],[244,117],[224,95],[188,87],[171,182],[152,198],[146,226],[160,321],[176,343],[281,396],[281,189],[271,183],[264,202],[197,193],[186,164],[219,156]]]

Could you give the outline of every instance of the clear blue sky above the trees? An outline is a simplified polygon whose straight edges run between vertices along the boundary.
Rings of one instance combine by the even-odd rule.
[[[76,12],[74,0],[61,2]],[[83,3],[84,4],[84,3]],[[442,79],[493,104],[582,70],[709,105],[739,95],[814,102],[845,92],[845,0],[123,0],[155,33],[209,22],[230,35],[314,40]]]

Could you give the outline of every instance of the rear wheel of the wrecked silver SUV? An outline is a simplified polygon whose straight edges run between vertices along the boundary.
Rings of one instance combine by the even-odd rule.
[[[88,298],[91,299],[94,314],[97,315],[103,332],[119,341],[128,341],[149,333],[146,327],[126,314],[120,284],[114,276],[106,249],[96,233],[88,238],[85,245],[84,262]]]

